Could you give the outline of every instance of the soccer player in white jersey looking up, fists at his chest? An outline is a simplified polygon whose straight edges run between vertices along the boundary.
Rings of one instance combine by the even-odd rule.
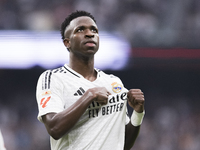
[[[37,83],[38,119],[52,150],[130,149],[144,117],[144,95],[94,68],[98,27],[85,11],[70,14],[61,25],[69,64],[47,70]],[[127,115],[127,102],[134,109]]]

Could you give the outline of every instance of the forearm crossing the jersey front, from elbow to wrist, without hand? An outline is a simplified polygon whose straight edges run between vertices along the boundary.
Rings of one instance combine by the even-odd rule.
[[[94,96],[88,91],[68,109],[57,114],[50,113],[43,116],[42,119],[48,133],[54,139],[59,139],[68,133],[86,111],[93,99]]]

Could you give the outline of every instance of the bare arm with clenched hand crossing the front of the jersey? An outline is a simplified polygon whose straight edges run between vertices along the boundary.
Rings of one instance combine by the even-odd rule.
[[[92,101],[101,105],[107,104],[110,93],[103,87],[96,87],[87,90],[72,106],[60,113],[48,113],[42,116],[42,120],[48,133],[59,139],[76,124],[79,118],[86,111]]]

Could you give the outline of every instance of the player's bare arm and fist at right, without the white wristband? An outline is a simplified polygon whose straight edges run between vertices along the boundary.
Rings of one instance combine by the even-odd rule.
[[[131,89],[128,92],[128,103],[138,113],[144,111],[144,94],[140,89]],[[131,121],[125,128],[124,150],[130,150],[139,134],[140,126],[133,126]]]

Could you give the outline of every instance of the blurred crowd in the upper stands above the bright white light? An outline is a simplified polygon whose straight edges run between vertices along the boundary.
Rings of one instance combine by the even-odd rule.
[[[0,0],[0,30],[59,30],[74,10],[91,12],[100,30],[133,47],[199,48],[199,0]]]

